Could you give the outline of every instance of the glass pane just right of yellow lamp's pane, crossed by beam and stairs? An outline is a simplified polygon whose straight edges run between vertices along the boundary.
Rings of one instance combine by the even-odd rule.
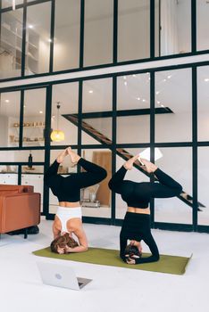
[[[112,78],[84,81],[82,144],[112,143],[112,102]]]

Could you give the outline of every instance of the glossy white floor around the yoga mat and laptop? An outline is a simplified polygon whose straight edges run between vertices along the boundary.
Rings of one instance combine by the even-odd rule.
[[[0,240],[0,308],[2,312],[60,311],[161,311],[208,312],[209,234],[154,230],[163,254],[189,256],[185,275],[104,267],[44,259],[31,251],[46,247],[52,239],[51,221],[42,220],[40,234],[2,235]],[[90,246],[119,248],[118,226],[85,224]],[[146,251],[146,246],[144,248]],[[43,285],[36,261],[59,262],[77,275],[93,279],[81,291]]]

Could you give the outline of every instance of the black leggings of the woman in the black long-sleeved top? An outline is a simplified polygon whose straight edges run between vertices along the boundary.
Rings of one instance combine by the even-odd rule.
[[[126,172],[127,169],[122,166],[109,181],[109,187],[113,192],[120,193],[129,207],[147,208],[151,198],[173,197],[182,191],[182,186],[159,168],[155,170],[159,183],[123,180]]]

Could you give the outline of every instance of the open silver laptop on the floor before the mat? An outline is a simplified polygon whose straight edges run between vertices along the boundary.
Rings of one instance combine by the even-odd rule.
[[[79,291],[92,280],[76,277],[73,268],[63,264],[37,262],[43,283]]]

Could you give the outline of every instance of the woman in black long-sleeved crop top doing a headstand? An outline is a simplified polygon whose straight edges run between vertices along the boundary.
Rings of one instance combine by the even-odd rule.
[[[173,197],[179,195],[182,191],[179,183],[147,160],[142,160],[144,164],[143,168],[148,173],[154,172],[159,183],[136,183],[123,180],[127,170],[133,168],[133,163],[136,160],[138,160],[138,155],[126,161],[109,181],[110,189],[115,193],[120,193],[121,198],[128,205],[120,234],[120,257],[128,264],[155,262],[159,260],[159,251],[150,229],[150,209],[148,208],[148,203],[151,198]],[[130,245],[127,246],[128,240],[130,240]],[[138,257],[142,250],[140,245],[141,240],[146,242],[149,247],[152,253],[150,257]],[[129,247],[133,247],[131,252],[129,251]],[[138,250],[138,252],[133,252],[134,249]],[[131,255],[132,252],[135,255]]]

